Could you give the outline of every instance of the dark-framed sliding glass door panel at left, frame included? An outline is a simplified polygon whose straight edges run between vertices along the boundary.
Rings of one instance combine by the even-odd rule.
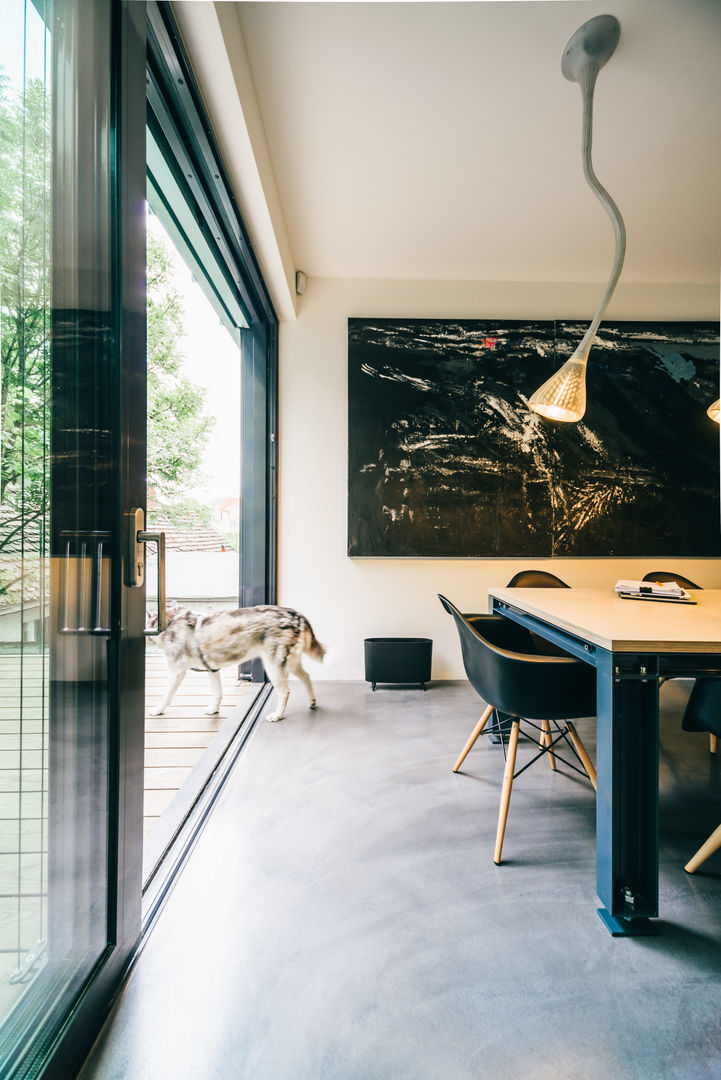
[[[0,65],[10,1080],[72,1075],[139,932],[145,613],[124,559],[145,498],[145,8],[4,0]]]

